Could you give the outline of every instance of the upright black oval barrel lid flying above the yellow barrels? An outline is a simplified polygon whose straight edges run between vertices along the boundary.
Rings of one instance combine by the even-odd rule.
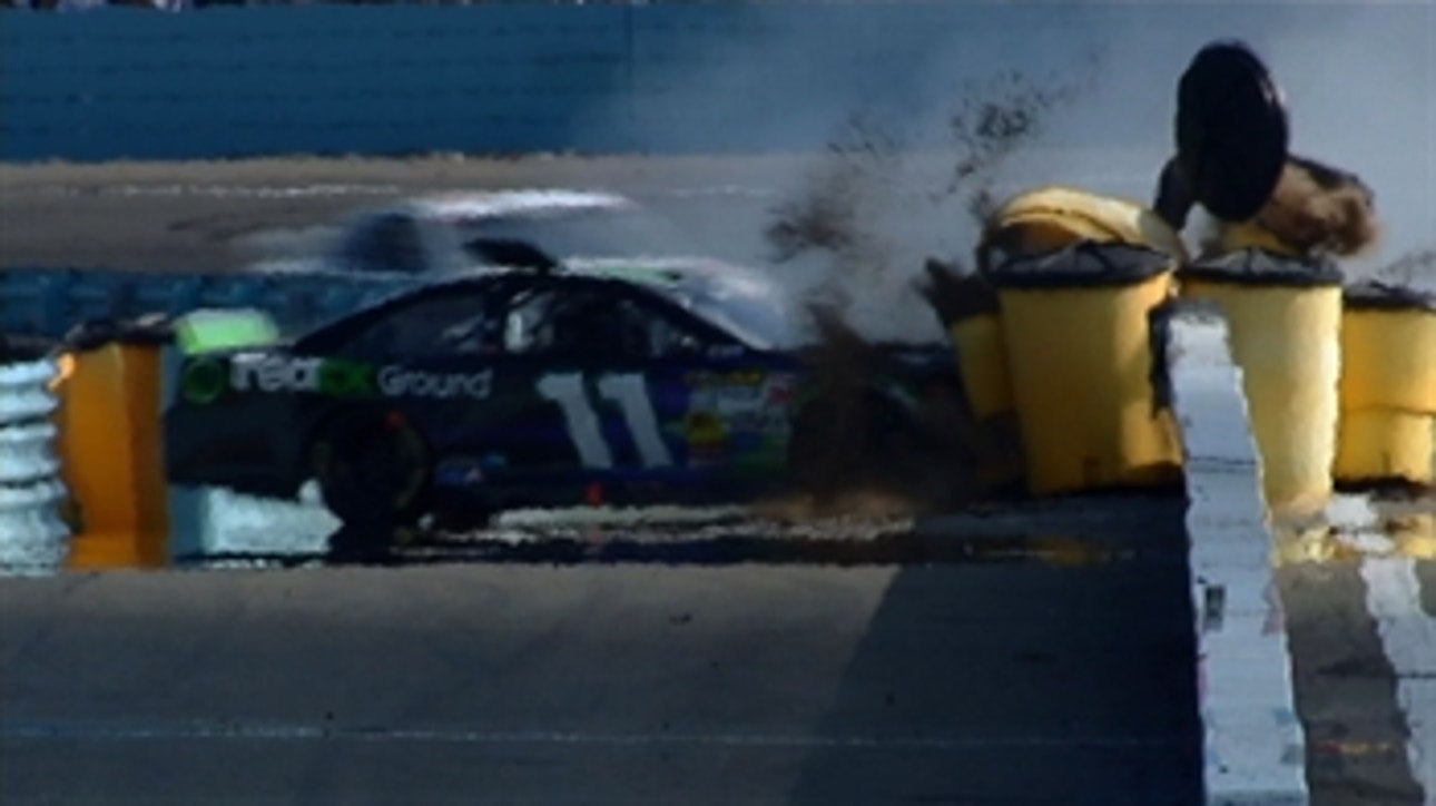
[[[1281,178],[1290,128],[1281,91],[1236,40],[1196,53],[1178,83],[1178,162],[1196,201],[1225,221],[1255,216]]]

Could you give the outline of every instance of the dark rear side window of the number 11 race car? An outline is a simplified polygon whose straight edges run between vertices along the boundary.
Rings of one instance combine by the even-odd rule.
[[[487,353],[500,346],[497,325],[480,295],[434,296],[369,322],[342,351],[388,358]]]

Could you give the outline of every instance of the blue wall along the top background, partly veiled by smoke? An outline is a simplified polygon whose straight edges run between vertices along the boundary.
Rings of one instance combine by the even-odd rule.
[[[1412,53],[1432,47],[1432,7],[0,11],[0,158],[804,149],[854,111],[932,122],[964,79],[1070,72],[1099,49],[1101,114],[1053,136],[1152,145],[1167,136],[1172,82],[1212,37]],[[1304,76],[1282,79],[1300,89]]]

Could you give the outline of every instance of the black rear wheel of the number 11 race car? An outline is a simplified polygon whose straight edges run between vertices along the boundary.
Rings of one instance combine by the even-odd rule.
[[[345,524],[330,550],[388,549],[398,530],[424,514],[429,454],[401,417],[337,412],[316,430],[309,455],[325,507]]]

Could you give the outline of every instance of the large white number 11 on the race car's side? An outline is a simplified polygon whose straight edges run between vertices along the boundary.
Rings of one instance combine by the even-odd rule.
[[[648,386],[643,376],[636,374],[603,375],[596,384],[599,397],[613,402],[623,412],[623,424],[633,435],[639,458],[643,467],[665,467],[673,464],[673,457],[663,444],[663,437],[658,431],[658,417],[653,414],[653,404],[648,399]],[[563,411],[564,425],[573,447],[579,451],[579,460],[584,467],[613,467],[613,451],[607,440],[603,438],[603,428],[599,414],[593,409],[587,391],[583,388],[583,375],[564,372],[561,375],[544,375],[537,384],[538,394]]]

